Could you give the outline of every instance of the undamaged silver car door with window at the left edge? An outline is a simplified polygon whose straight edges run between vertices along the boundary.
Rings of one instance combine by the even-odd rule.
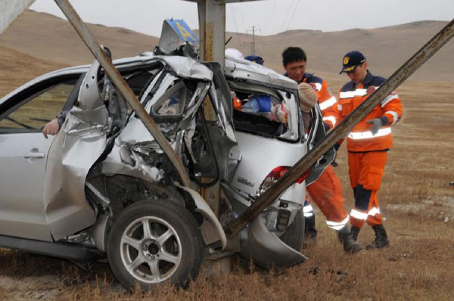
[[[44,125],[63,109],[81,72],[54,72],[0,100],[0,234],[52,240],[44,214]]]

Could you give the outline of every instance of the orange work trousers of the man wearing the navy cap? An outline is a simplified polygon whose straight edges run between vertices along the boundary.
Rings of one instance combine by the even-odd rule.
[[[361,228],[365,222],[371,226],[382,224],[377,194],[387,155],[386,151],[348,153],[350,184],[355,193],[355,207],[350,214],[354,227]]]

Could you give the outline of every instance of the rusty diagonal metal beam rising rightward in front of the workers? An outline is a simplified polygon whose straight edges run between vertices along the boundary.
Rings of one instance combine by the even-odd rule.
[[[454,19],[441,29],[429,42],[419,49],[404,65],[392,74],[369,98],[361,103],[337,127],[323,138],[312,150],[301,158],[289,171],[277,180],[261,197],[259,197],[242,215],[228,225],[225,234],[233,237],[249,222],[257,217],[267,206],[291,186],[297,178],[320,158],[336,141],[345,137],[350,130],[378,105],[395,88],[410,77],[432,55],[454,36]]]

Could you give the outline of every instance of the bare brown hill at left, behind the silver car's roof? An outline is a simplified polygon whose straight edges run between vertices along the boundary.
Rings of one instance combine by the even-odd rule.
[[[110,48],[114,58],[153,50],[159,40],[125,28],[94,24],[88,27],[101,44]],[[67,65],[88,64],[93,60],[68,21],[33,11],[25,12],[0,36],[0,45]]]

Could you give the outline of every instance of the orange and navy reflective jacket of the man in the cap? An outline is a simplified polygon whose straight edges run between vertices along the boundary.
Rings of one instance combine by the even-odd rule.
[[[384,81],[384,78],[374,76],[367,71],[363,83],[357,85],[350,81],[345,84],[338,94],[338,104],[335,110],[336,122],[340,123]],[[401,116],[401,100],[396,92],[392,92],[352,129],[347,136],[347,150],[349,152],[369,152],[391,148],[391,125],[398,122]],[[384,126],[377,134],[372,135],[370,124],[366,124],[366,122],[374,118],[381,118]]]

